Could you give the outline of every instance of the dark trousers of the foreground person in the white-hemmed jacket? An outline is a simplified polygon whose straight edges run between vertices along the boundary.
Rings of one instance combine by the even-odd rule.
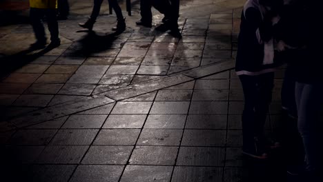
[[[274,73],[257,76],[241,75],[239,79],[244,90],[244,111],[242,113],[242,133],[244,148],[253,147],[255,136],[262,137],[264,124],[271,103]]]

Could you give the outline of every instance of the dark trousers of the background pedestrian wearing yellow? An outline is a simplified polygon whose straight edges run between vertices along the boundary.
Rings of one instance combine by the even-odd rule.
[[[59,39],[59,28],[56,17],[56,9],[30,8],[30,21],[35,32],[37,41],[46,41],[46,34],[43,28],[43,17],[47,17],[48,30],[50,31],[50,40]]]

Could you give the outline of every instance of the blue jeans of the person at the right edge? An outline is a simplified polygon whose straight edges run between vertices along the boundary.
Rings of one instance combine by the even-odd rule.
[[[323,87],[320,84],[296,82],[297,125],[304,144],[306,170],[309,171],[317,170],[322,155],[322,140],[320,137],[322,94]]]

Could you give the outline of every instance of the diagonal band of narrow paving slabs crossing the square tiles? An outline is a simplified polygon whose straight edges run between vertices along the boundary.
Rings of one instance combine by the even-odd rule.
[[[92,98],[78,99],[76,101],[68,101],[66,103],[53,105],[53,106],[50,106],[47,108],[41,108],[39,110],[28,112],[26,114],[22,114],[19,117],[15,117],[14,119],[8,120],[7,124],[5,123],[5,125],[4,125],[5,127],[1,127],[1,132],[7,132],[7,131],[14,129],[14,128],[12,128],[12,125],[17,128],[24,128],[29,125],[34,125],[36,123],[42,123],[45,121],[50,121],[52,119],[65,117],[70,114],[75,114],[77,112],[83,112],[85,110],[97,108],[99,106],[103,106],[108,103],[115,103],[116,101],[130,99],[132,97],[137,97],[141,94],[146,94],[148,92],[161,90],[163,88],[168,88],[173,85],[178,85],[181,83],[186,83],[188,81],[193,81],[195,79],[208,77],[212,74],[217,74],[219,72],[224,72],[226,70],[233,69],[234,63],[235,63],[235,61],[233,61],[233,60],[220,61],[220,62],[209,64],[209,65],[203,65],[198,68],[194,68],[189,71],[184,71],[182,73],[177,73],[177,74],[174,74],[171,76],[166,76],[166,77],[158,78],[158,79],[152,79],[150,81],[143,81],[143,82],[136,83],[133,85],[128,85],[123,88],[117,88],[115,90],[103,92],[98,95],[92,95]],[[175,80],[176,83],[168,83],[167,82],[167,79],[177,79],[177,77],[179,77],[179,80],[178,81]],[[182,79],[181,79],[181,77],[182,77]],[[164,83],[164,84],[166,83],[168,85],[158,84],[158,82]],[[150,83],[155,86],[149,87],[149,85],[148,85],[148,88],[147,88],[146,83]],[[139,92],[139,91],[141,91],[141,92]],[[104,100],[106,100],[106,101],[104,101]],[[92,105],[87,105],[86,103],[89,104],[90,101],[92,101]],[[99,103],[94,103],[95,101],[99,101]],[[65,108],[65,109],[63,109],[63,108]]]

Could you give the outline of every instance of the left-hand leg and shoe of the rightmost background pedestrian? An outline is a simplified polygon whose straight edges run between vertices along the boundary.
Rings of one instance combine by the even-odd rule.
[[[137,26],[145,26],[150,28],[153,21],[153,14],[151,12],[152,1],[140,0],[140,15],[141,19],[136,22]]]

